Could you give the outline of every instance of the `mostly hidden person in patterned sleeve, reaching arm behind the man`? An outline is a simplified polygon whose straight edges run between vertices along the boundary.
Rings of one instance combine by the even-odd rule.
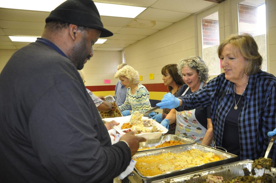
[[[81,76],[81,79],[83,80],[83,84],[85,83],[84,80],[84,73],[82,70],[78,70],[79,74]],[[105,100],[104,96],[99,96],[97,97],[94,95],[89,89],[86,88],[86,91],[88,92],[89,96],[93,100],[94,104],[96,105],[98,111],[102,112],[108,112],[112,109],[112,107],[115,105],[115,102],[108,102],[108,101],[103,101]]]

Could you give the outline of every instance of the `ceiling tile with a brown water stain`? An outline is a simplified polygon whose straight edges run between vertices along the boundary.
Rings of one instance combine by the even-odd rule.
[[[190,13],[174,12],[169,10],[160,10],[156,8],[148,8],[136,18],[145,20],[177,22],[191,15]]]

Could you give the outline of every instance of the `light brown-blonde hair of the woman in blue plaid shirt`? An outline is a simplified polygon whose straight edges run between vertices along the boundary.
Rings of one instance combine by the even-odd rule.
[[[245,66],[246,75],[249,76],[250,74],[255,74],[261,70],[263,58],[258,52],[257,43],[250,34],[231,35],[223,40],[218,46],[218,57],[220,57],[226,44],[231,44],[235,52],[240,51],[241,55],[243,55],[243,57],[248,61]]]

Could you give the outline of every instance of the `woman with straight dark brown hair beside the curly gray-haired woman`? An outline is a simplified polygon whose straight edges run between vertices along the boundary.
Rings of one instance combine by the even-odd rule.
[[[184,85],[184,80],[183,78],[178,74],[177,71],[177,64],[168,64],[165,65],[161,69],[161,73],[163,75],[162,80],[164,82],[165,86],[168,86],[168,90],[171,94],[174,96],[177,96],[177,92],[180,89],[182,85]],[[157,122],[161,122],[167,114],[169,114],[170,109],[165,108],[163,109],[162,114],[156,114],[155,116],[152,117],[152,119],[155,119]],[[175,126],[176,123],[170,124],[169,131],[167,134],[174,134],[175,133]]]

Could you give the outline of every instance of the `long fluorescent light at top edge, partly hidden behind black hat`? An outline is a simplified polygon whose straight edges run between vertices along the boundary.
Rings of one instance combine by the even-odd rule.
[[[58,5],[63,3],[64,0],[7,0],[0,4],[1,8],[19,9],[19,10],[35,10],[47,11],[54,10]],[[126,17],[135,18],[146,8],[137,6],[126,6],[119,4],[96,3],[100,15],[112,17]]]

